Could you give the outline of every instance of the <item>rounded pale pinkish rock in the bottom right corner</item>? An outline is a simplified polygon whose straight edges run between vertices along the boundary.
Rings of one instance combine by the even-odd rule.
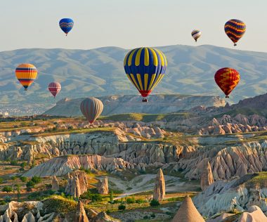
[[[267,222],[267,217],[258,206],[254,205],[240,216],[238,222]]]

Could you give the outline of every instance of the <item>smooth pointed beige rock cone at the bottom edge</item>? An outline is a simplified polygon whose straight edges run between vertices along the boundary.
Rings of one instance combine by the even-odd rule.
[[[172,222],[204,222],[190,197],[185,197]]]

